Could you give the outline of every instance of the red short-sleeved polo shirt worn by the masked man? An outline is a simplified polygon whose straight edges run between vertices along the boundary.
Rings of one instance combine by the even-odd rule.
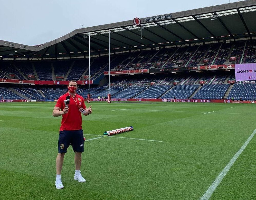
[[[63,110],[65,108],[64,100],[66,100],[67,96],[70,96],[69,111],[62,115],[60,131],[80,130],[82,129],[82,114],[78,109],[81,107],[86,109],[84,99],[78,94],[75,94],[72,98],[72,96],[67,92],[58,99],[55,106]]]

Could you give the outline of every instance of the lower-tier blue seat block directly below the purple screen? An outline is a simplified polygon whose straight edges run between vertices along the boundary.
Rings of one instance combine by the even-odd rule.
[[[227,99],[234,97],[235,100],[256,100],[256,83],[234,84]]]

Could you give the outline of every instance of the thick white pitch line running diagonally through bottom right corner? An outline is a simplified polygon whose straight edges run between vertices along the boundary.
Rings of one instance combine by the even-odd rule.
[[[246,140],[246,142],[243,144],[241,149],[234,155],[234,157],[229,161],[229,163],[225,166],[225,168],[222,170],[222,172],[217,176],[215,181],[212,183],[212,185],[208,188],[208,190],[204,193],[204,195],[201,197],[200,200],[208,200],[212,193],[215,191],[215,189],[218,187],[218,185],[221,183],[222,179],[225,177],[227,172],[230,170],[236,159],[240,156],[240,154],[243,152],[243,150],[246,148],[247,144],[251,141],[253,136],[256,133],[256,129],[253,131],[253,133],[250,135],[250,137]]]

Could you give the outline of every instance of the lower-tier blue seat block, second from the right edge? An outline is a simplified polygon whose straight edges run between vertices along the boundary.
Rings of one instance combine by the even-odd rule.
[[[192,99],[223,99],[230,84],[204,85]]]

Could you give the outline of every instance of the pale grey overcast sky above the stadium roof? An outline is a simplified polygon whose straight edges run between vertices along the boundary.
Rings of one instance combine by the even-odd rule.
[[[0,0],[0,39],[38,45],[80,25],[90,27],[224,3],[229,0]]]

